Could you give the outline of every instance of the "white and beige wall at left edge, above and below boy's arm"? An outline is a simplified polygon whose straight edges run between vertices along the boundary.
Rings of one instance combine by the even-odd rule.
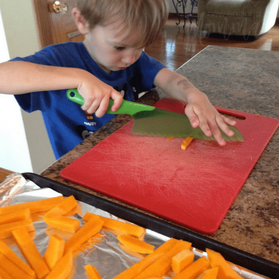
[[[32,0],[0,0],[0,9],[9,56],[24,57],[38,51],[40,43]],[[0,40],[0,46],[3,45],[4,40]],[[42,172],[55,158],[41,113],[28,114],[20,110],[17,114],[19,106],[13,96],[0,94],[0,103],[10,110],[0,115],[0,167],[16,172]],[[13,131],[8,132],[7,127]]]

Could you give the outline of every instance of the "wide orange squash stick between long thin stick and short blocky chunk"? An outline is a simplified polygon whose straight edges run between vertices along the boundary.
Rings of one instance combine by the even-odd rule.
[[[141,273],[133,277],[133,279],[145,279],[148,277],[162,277],[171,266],[171,259],[177,253],[184,249],[190,249],[191,243],[183,240],[179,240],[173,247],[171,247],[166,253],[158,258],[154,263],[144,269]],[[208,262],[209,265],[209,262]]]

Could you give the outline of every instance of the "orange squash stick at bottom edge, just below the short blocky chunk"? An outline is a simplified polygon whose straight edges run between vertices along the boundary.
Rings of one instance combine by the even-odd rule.
[[[195,279],[199,274],[205,271],[210,266],[210,262],[205,257],[201,257],[172,279]]]

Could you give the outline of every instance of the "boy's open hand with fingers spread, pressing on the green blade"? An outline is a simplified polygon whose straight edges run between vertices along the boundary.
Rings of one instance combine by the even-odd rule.
[[[233,136],[234,134],[227,125],[234,126],[236,122],[221,115],[208,100],[207,96],[198,90],[193,90],[188,95],[185,114],[188,116],[192,127],[199,126],[206,136],[214,135],[221,146],[224,146],[226,142],[219,128],[228,136]]]

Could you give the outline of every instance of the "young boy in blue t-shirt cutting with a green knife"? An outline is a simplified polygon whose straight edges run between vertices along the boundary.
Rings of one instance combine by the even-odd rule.
[[[134,100],[154,86],[187,102],[192,126],[225,145],[218,127],[232,136],[227,124],[235,122],[185,77],[144,52],[167,20],[168,0],[77,0],[72,14],[84,42],[48,46],[0,64],[0,92],[14,94],[27,112],[42,112],[57,159],[114,117],[105,114],[109,98],[116,111],[123,98]],[[67,99],[69,88],[83,96],[81,108]]]

